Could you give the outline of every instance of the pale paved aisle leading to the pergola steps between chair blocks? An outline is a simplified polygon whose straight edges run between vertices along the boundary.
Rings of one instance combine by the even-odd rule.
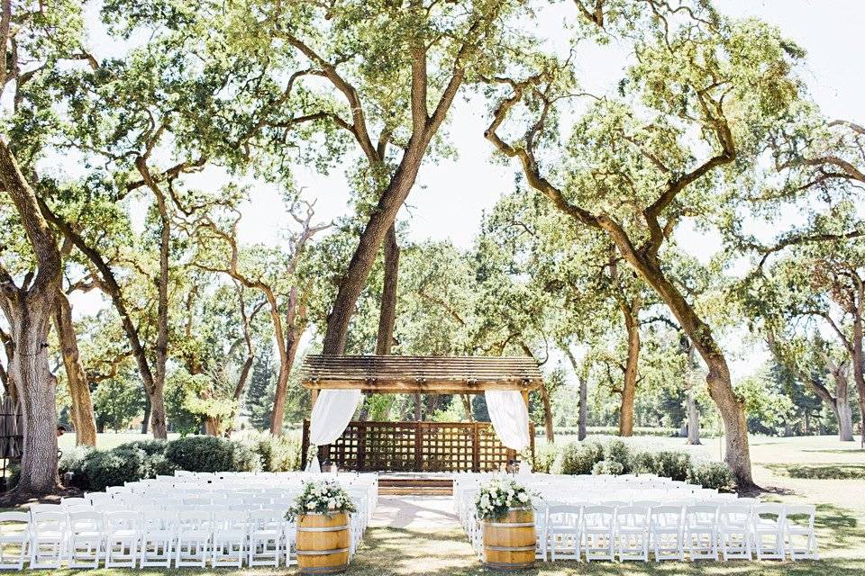
[[[460,528],[450,496],[379,496],[372,527],[423,532]]]

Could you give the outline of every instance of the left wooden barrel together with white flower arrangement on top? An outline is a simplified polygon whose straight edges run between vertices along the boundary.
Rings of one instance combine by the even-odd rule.
[[[345,572],[349,567],[351,513],[357,511],[339,482],[304,482],[286,518],[297,523],[297,568],[302,574]]]

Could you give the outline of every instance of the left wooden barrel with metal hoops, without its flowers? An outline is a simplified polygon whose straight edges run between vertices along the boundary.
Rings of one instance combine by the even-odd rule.
[[[305,514],[297,519],[297,568],[301,574],[335,574],[349,567],[349,515]]]

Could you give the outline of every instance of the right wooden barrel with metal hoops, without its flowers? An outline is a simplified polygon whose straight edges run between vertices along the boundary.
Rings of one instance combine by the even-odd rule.
[[[534,564],[534,512],[511,509],[505,518],[484,522],[484,565],[524,570]]]

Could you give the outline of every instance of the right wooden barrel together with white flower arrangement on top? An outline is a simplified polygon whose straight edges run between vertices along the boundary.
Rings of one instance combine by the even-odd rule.
[[[533,566],[532,498],[532,493],[512,478],[496,478],[480,487],[475,509],[484,523],[487,568],[519,570]]]

